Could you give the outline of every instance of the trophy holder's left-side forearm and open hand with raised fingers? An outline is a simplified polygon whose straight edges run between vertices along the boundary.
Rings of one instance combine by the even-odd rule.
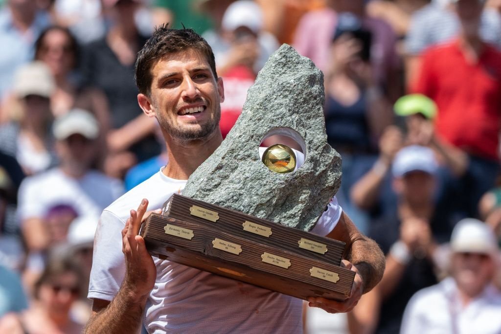
[[[155,284],[156,267],[146,250],[139,227],[148,207],[143,199],[137,211],[131,210],[122,230],[122,251],[125,255],[125,278],[115,298],[109,302],[94,299],[92,314],[85,333],[138,332],[146,299]]]

